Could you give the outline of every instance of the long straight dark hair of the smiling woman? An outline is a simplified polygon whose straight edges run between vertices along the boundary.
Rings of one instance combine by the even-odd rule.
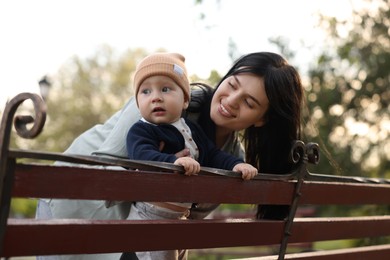
[[[284,174],[293,169],[289,162],[292,142],[301,138],[301,109],[303,87],[299,73],[280,55],[271,52],[256,52],[239,58],[218,83],[240,73],[251,73],[264,79],[269,109],[265,114],[266,123],[261,127],[251,126],[243,132],[246,162],[263,173]],[[215,124],[210,118],[212,94],[208,93],[198,123],[215,136]],[[282,219],[288,207],[261,206],[258,218]]]

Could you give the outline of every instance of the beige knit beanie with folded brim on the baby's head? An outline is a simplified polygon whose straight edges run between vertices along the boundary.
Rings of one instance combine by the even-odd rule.
[[[189,101],[190,83],[184,61],[184,56],[179,53],[155,53],[144,58],[135,71],[134,95],[137,96],[139,87],[146,78],[163,75],[173,79],[182,88],[185,99]]]

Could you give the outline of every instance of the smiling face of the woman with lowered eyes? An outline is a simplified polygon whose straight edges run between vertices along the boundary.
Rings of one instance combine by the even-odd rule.
[[[262,126],[268,107],[263,78],[240,73],[219,85],[211,101],[210,117],[217,127],[239,131]]]

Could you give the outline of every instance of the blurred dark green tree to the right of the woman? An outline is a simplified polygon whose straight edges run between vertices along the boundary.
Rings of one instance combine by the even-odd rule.
[[[327,140],[345,174],[388,177],[390,1],[364,2],[351,20],[321,17],[330,46],[309,71],[307,89],[319,132],[307,127],[306,133]],[[328,166],[323,162],[321,171],[334,172]]]

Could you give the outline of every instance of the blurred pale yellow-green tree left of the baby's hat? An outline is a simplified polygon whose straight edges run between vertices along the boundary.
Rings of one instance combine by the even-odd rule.
[[[132,73],[145,50],[115,53],[102,46],[86,59],[72,57],[52,77],[48,120],[29,149],[63,152],[91,126],[104,122],[133,94]]]

